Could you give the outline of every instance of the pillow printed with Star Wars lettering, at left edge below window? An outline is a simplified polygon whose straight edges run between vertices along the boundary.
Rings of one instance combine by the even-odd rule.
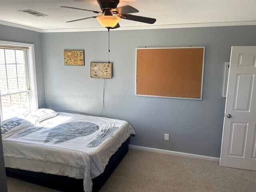
[[[33,125],[31,122],[18,117],[13,117],[8,120],[2,121],[0,122],[0,124],[2,139],[11,136],[12,134],[16,133],[21,129],[25,129]]]

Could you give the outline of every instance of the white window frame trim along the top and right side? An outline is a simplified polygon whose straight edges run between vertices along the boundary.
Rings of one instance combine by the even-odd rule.
[[[19,43],[19,42],[10,42],[10,41],[1,41],[1,46],[20,46],[28,47],[27,58],[28,58],[28,76],[29,76],[29,100],[30,100],[30,111],[38,109],[38,94],[37,94],[37,83],[36,83],[36,60],[35,60],[35,49],[34,44],[28,43]],[[27,73],[27,72],[26,72]],[[28,92],[28,91],[26,91]],[[0,102],[1,105],[1,102]],[[2,106],[0,106],[0,110]],[[0,119],[2,120],[2,111],[0,112]]]

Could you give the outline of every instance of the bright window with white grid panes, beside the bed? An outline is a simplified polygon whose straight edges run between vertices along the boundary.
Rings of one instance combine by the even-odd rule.
[[[0,117],[23,116],[37,108],[34,65],[29,47],[0,44]],[[31,83],[32,82],[32,83]],[[32,86],[31,86],[32,84]]]

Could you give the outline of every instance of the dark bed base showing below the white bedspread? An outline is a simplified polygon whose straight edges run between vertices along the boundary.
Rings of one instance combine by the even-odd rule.
[[[98,192],[108,180],[112,172],[128,152],[129,138],[120,146],[114,155],[111,156],[102,174],[92,179],[93,192]],[[6,175],[26,182],[46,186],[63,192],[84,192],[83,179],[75,179],[67,176],[25,171],[20,169],[5,168]]]

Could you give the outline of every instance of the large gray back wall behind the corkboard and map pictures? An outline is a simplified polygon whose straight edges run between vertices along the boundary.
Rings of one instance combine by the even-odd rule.
[[[106,80],[103,116],[127,120],[131,144],[220,157],[225,99],[224,62],[231,46],[256,44],[256,26],[112,31],[113,79]],[[108,61],[107,32],[42,34],[46,106],[99,116],[103,79],[90,78],[90,62]],[[203,100],[134,97],[136,48],[205,46]],[[84,49],[85,66],[64,66],[64,49]],[[154,78],[154,77],[152,77]],[[164,141],[164,134],[170,141]]]

